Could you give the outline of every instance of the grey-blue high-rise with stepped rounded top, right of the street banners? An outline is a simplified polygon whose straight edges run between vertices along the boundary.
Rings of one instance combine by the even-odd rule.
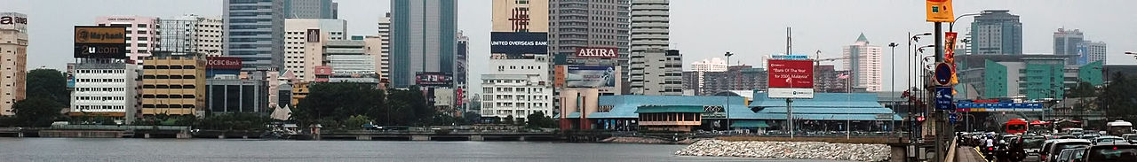
[[[1022,54],[1022,23],[1010,10],[984,10],[971,23],[971,54]]]

